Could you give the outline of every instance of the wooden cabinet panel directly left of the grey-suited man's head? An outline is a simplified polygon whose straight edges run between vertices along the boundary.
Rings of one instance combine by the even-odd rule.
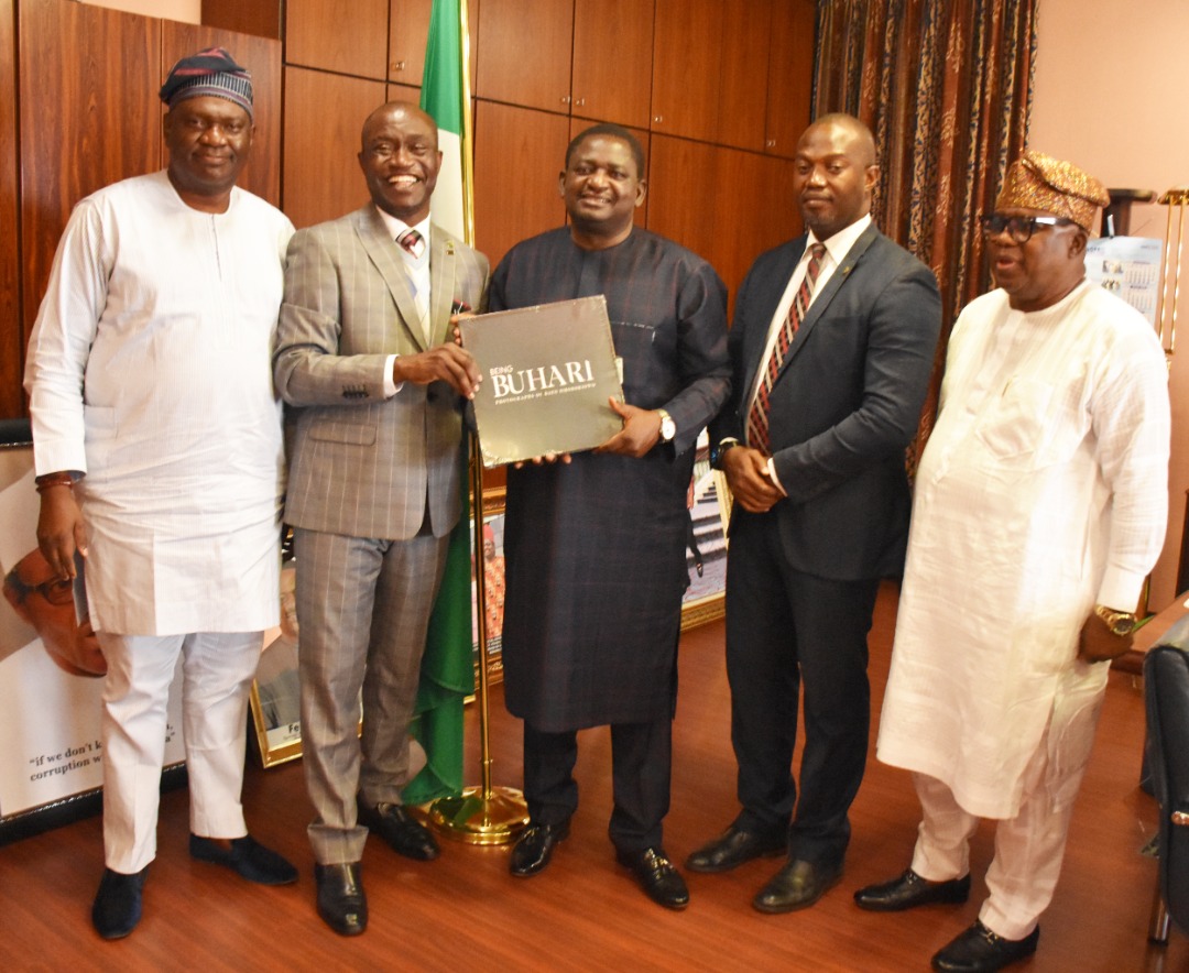
[[[333,220],[367,202],[359,133],[384,82],[285,68],[282,209],[294,226]]]

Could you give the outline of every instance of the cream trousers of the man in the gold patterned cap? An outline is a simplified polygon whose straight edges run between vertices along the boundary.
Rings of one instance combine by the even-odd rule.
[[[987,868],[989,895],[979,920],[1004,939],[1021,940],[1036,929],[1057,887],[1102,691],[1082,694],[1074,703],[1069,715],[1065,707],[1057,708],[1025,767],[1019,814],[995,823],[995,855]],[[924,773],[913,773],[912,779],[924,813],[912,870],[929,882],[961,878],[970,871],[970,838],[979,819],[963,810],[940,781]]]

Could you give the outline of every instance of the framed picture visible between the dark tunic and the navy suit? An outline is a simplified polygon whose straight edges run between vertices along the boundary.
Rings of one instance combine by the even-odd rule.
[[[698,453],[686,506],[690,532],[685,551],[690,587],[681,602],[681,630],[705,625],[725,614],[726,524],[731,518],[731,493],[726,478],[710,468],[710,443],[705,431]]]

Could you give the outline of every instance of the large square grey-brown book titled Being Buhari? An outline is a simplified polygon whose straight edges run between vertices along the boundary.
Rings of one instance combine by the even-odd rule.
[[[483,381],[474,396],[489,469],[546,453],[578,453],[623,428],[623,402],[603,295],[459,321]]]

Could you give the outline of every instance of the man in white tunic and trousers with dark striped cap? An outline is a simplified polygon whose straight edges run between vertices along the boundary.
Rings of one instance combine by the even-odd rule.
[[[184,658],[190,854],[277,885],[240,788],[247,691],[277,624],[284,454],[270,355],[292,226],[235,187],[251,77],[225,50],[161,89],[165,171],[76,207],[30,339],[38,544],[87,561],[103,688],[105,870],[92,921],[132,931],[156,855],[165,705]]]

